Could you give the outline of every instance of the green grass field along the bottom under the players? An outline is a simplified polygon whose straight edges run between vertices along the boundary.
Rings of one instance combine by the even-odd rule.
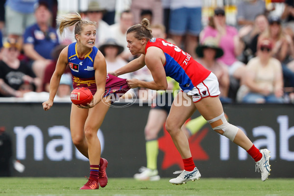
[[[293,196],[294,178],[201,178],[172,185],[168,178],[136,181],[110,178],[99,190],[79,190],[86,178],[0,178],[0,196]]]

